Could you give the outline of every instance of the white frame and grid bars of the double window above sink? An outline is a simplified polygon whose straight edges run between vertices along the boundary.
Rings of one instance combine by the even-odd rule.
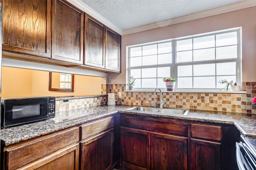
[[[236,32],[236,38],[237,38],[237,43],[236,44],[231,44],[231,45],[224,45],[224,46],[216,46],[216,36],[217,35],[220,35],[220,34],[224,34],[224,33],[232,33],[232,32]],[[177,41],[180,41],[180,40],[184,40],[184,39],[195,39],[195,38],[200,38],[200,37],[208,37],[210,35],[214,35],[215,37],[215,46],[214,47],[207,47],[207,48],[202,48],[202,49],[210,49],[210,48],[214,48],[215,50],[215,57],[214,59],[212,60],[204,60],[204,61],[189,61],[189,62],[180,62],[178,63],[177,62],[177,51],[176,51],[176,43]],[[178,66],[188,66],[188,65],[198,65],[198,64],[212,64],[214,63],[215,65],[217,63],[230,63],[230,62],[234,62],[236,63],[236,80],[235,82],[237,82],[238,84],[241,82],[241,79],[240,79],[240,67],[241,67],[241,60],[240,60],[240,28],[234,28],[234,29],[230,29],[230,30],[226,30],[226,31],[219,31],[219,32],[215,32],[215,33],[209,33],[209,34],[204,34],[204,35],[195,35],[195,36],[191,36],[191,37],[186,37],[186,38],[177,38],[177,39],[172,39],[172,40],[166,40],[165,42],[171,42],[172,43],[172,57],[171,57],[171,63],[167,63],[167,64],[154,64],[154,65],[144,65],[144,66],[130,66],[130,49],[131,48],[134,48],[134,47],[141,47],[141,50],[143,49],[143,46],[147,46],[147,45],[157,45],[157,44],[162,44],[164,41],[161,41],[161,42],[154,42],[154,43],[150,43],[150,44],[147,44],[147,45],[136,45],[136,46],[132,46],[132,47],[128,47],[128,69],[127,69],[127,72],[128,72],[128,76],[131,75],[131,70],[133,69],[143,69],[143,68],[161,68],[161,67],[170,67],[170,72],[168,74],[170,74],[170,76],[172,78],[178,78]],[[164,43],[165,43],[164,42]],[[192,44],[193,45],[193,44]],[[237,46],[237,51],[236,51],[236,57],[234,58],[227,58],[227,59],[216,59],[216,48],[219,48],[219,47],[230,47],[230,46],[234,46],[236,45]],[[196,51],[196,50],[200,50],[200,48],[196,48],[196,49],[193,49],[192,48],[192,51]],[[154,54],[154,55],[159,55],[158,53],[157,54]],[[135,56],[133,56],[135,57]],[[138,56],[136,56],[138,57]],[[142,56],[142,51],[141,51],[141,57]],[[215,66],[215,72],[216,72],[216,66]],[[157,75],[157,72],[156,72],[156,75]],[[234,75],[234,74],[232,74]],[[165,75],[163,75],[165,76]],[[209,75],[210,76],[210,75]],[[215,75],[215,88],[193,88],[194,86],[194,82],[193,82],[193,86],[192,88],[180,88],[178,87],[178,85],[176,85],[176,90],[216,90],[216,89],[221,89],[221,88],[218,88],[218,82],[216,82],[216,77],[218,76],[216,73]],[[228,75],[226,75],[228,76]],[[180,78],[183,77],[183,76],[179,76]],[[200,76],[190,76],[192,77],[193,81],[194,81],[194,77],[200,77]],[[136,78],[136,77],[135,77]],[[142,75],[140,75],[140,78],[138,79],[141,79],[142,78]],[[155,78],[156,79],[156,83],[158,84],[158,81],[161,81],[159,78],[162,78],[161,77],[152,77],[152,78]],[[225,79],[225,78],[224,78]],[[128,78],[127,78],[128,80]],[[179,81],[179,79],[178,79]],[[178,84],[178,83],[176,83]],[[216,85],[217,84],[217,85]],[[149,88],[149,87],[146,87],[146,88],[142,88],[142,81],[140,81],[140,87],[139,88],[136,88],[135,89],[142,89],[142,90],[146,90],[146,89],[154,89],[156,88],[155,86],[152,87],[152,88]],[[163,87],[162,87],[163,88]],[[164,89],[164,88],[163,88]]]

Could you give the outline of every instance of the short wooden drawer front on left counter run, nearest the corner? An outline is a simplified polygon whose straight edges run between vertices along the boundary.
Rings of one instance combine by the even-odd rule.
[[[114,127],[114,117],[104,117],[102,119],[93,121],[91,123],[87,123],[85,125],[82,125],[82,134],[81,134],[81,140],[84,140],[88,137],[92,137],[98,133],[101,133],[102,131],[106,131],[110,128]]]

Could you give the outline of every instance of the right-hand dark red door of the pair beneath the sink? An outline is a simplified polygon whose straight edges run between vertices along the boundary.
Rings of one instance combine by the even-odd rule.
[[[187,170],[187,137],[150,133],[151,170]]]

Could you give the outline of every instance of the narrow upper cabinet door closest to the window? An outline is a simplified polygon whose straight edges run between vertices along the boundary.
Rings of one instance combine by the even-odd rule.
[[[106,29],[106,66],[107,70],[120,72],[121,36],[111,29]]]

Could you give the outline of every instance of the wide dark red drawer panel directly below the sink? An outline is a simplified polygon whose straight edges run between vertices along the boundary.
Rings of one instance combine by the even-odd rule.
[[[186,121],[162,117],[121,114],[121,126],[182,136],[188,135],[188,123]]]

